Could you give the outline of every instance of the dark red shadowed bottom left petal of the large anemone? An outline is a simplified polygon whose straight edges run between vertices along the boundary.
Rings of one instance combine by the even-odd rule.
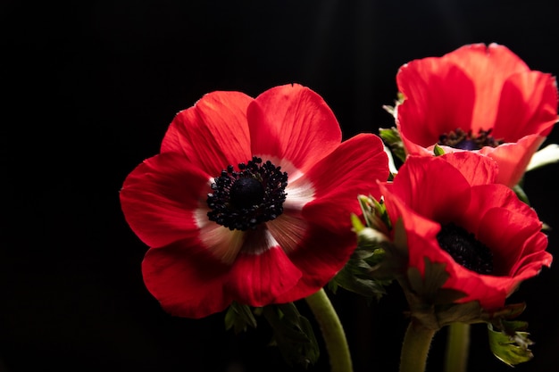
[[[142,262],[150,293],[171,315],[204,318],[232,301],[223,290],[229,267],[199,247],[196,239],[150,249]]]

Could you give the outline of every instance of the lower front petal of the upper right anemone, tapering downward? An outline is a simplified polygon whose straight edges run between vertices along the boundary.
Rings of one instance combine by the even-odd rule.
[[[522,137],[515,144],[483,147],[480,153],[487,155],[498,164],[499,173],[496,182],[513,187],[520,182],[532,155],[545,140],[546,137],[530,135]]]

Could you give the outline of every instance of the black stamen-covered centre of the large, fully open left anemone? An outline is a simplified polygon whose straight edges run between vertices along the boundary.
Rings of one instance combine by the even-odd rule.
[[[288,186],[288,173],[271,161],[253,157],[229,165],[214,178],[213,193],[208,194],[208,219],[230,230],[255,229],[259,224],[276,219],[283,212]]]

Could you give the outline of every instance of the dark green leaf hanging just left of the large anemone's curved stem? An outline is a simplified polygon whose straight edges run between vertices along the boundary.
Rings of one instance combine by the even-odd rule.
[[[290,367],[308,368],[316,363],[320,349],[313,327],[293,302],[264,306],[263,316],[273,329],[271,344],[278,346]]]

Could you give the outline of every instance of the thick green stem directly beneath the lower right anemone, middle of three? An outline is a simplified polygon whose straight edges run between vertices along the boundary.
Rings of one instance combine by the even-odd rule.
[[[400,354],[400,372],[423,372],[427,365],[431,340],[437,331],[423,327],[412,319],[405,331]]]

